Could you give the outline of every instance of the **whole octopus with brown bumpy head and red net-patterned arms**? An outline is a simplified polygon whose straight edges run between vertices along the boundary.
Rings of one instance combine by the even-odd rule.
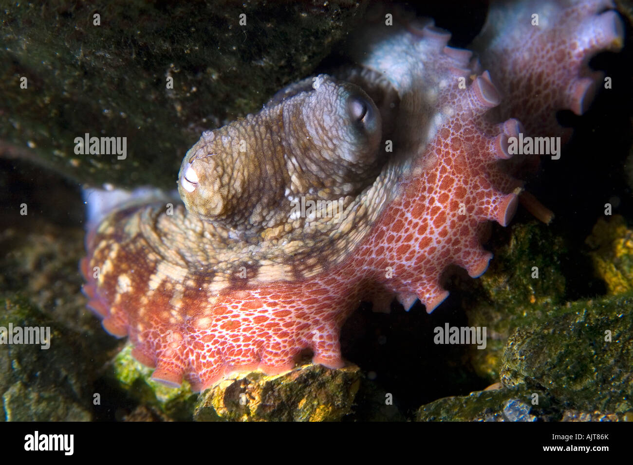
[[[480,234],[510,221],[522,186],[504,165],[523,130],[514,118],[551,135],[561,128],[539,133],[526,108],[586,109],[596,87],[586,79],[599,78],[588,59],[622,46],[609,8],[493,4],[494,25],[475,41],[490,72],[430,20],[394,12],[387,26],[388,11],[377,15],[350,46],[357,65],[204,132],[180,169],[182,204],[149,191],[101,199],[116,208],[91,218],[89,307],[169,385],[280,373],[306,349],[341,367],[339,332],[360,301],[380,310],[420,299],[432,311],[448,295],[439,276],[449,264],[486,270]],[[534,12],[541,26],[523,27]],[[302,197],[330,209],[296,209]]]

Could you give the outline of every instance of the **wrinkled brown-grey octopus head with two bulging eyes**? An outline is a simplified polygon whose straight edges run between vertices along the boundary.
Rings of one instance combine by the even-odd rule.
[[[204,132],[180,167],[180,197],[205,221],[259,233],[289,221],[290,199],[338,199],[367,187],[381,137],[372,99],[357,85],[319,75],[291,85],[256,115]]]

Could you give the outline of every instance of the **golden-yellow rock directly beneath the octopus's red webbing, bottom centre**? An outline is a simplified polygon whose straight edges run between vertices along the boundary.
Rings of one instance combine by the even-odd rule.
[[[198,399],[198,421],[337,421],[352,411],[361,383],[358,366],[310,363],[285,375],[249,373],[222,381]]]

